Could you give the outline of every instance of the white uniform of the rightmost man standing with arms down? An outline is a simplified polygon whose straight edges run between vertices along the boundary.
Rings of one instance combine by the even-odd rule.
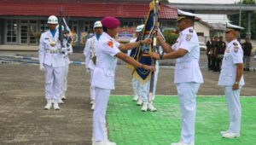
[[[232,133],[240,133],[241,128],[240,92],[241,87],[245,84],[243,76],[239,82],[240,89],[232,90],[232,86],[236,82],[236,64],[243,63],[242,57],[243,51],[239,42],[236,39],[231,41],[225,50],[218,79],[218,85],[224,86],[230,113],[230,128],[228,131]]]

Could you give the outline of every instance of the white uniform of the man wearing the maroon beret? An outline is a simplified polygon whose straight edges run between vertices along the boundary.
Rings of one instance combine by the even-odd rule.
[[[95,141],[105,141],[108,136],[105,131],[106,112],[111,90],[114,90],[115,67],[117,55],[120,52],[119,43],[103,32],[96,47],[96,67],[92,85],[96,87],[96,106],[93,113],[93,132]]]

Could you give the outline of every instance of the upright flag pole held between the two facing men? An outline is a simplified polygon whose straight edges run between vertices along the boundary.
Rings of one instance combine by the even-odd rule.
[[[152,34],[153,30],[159,29],[159,6],[160,2],[159,0],[153,0],[154,3],[154,26],[151,29],[150,37],[153,39],[153,46],[152,46],[152,52],[158,52],[159,53],[159,45],[157,44],[157,33],[155,32]],[[152,66],[155,66],[155,60],[152,59]],[[153,99],[153,90],[154,90],[154,73],[151,73],[151,79],[150,79],[150,88],[149,88],[149,95],[148,95],[148,102],[151,102]]]

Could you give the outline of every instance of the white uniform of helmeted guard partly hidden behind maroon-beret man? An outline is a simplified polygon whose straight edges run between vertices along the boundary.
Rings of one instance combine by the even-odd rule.
[[[90,71],[90,100],[95,101],[95,86],[91,85],[93,73],[96,65],[92,61],[92,58],[96,56],[96,46],[98,40],[96,36],[89,38],[85,44],[84,55],[85,55],[85,67]]]

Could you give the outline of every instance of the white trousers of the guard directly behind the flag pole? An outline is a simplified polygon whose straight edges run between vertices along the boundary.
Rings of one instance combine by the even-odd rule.
[[[156,62],[155,64],[156,71],[154,72],[154,89],[153,89],[153,97],[152,101],[154,101],[155,97],[155,90],[156,90],[156,84],[158,79],[158,73],[159,73],[159,64]],[[139,86],[139,94],[142,96],[143,102],[148,102],[148,96],[149,96],[149,90],[150,90],[150,80],[148,79],[148,82],[145,84],[140,84]]]

